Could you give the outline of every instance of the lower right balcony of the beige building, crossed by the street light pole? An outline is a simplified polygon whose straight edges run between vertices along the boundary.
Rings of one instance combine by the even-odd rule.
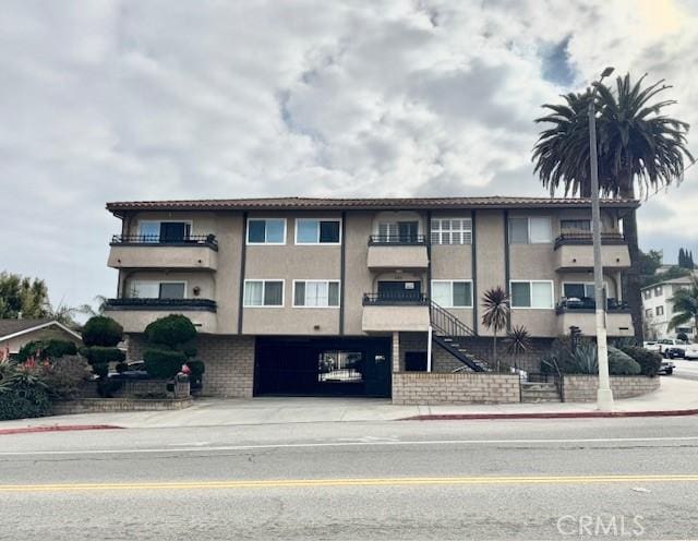
[[[633,336],[633,318],[627,304],[615,299],[607,300],[606,333],[609,336]],[[563,300],[557,305],[557,334],[569,333],[569,327],[579,327],[581,334],[597,335],[597,303],[593,299]]]

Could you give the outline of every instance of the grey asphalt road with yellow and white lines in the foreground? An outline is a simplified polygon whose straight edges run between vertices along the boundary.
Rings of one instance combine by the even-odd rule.
[[[0,539],[697,539],[696,418],[0,436]]]

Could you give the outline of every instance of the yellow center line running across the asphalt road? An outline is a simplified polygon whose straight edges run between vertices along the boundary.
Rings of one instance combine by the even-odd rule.
[[[467,484],[593,484],[593,483],[694,483],[698,474],[658,476],[520,476],[520,477],[417,477],[358,479],[273,479],[144,483],[0,484],[0,492],[282,489],[323,486],[401,486]]]

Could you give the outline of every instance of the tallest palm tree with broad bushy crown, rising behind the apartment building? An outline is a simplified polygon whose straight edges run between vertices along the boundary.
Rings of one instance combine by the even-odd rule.
[[[617,77],[615,89],[600,84],[597,94],[599,141],[599,184],[601,195],[634,200],[647,196],[684,176],[684,159],[694,163],[686,147],[688,124],[663,115],[675,100],[657,100],[671,88],[661,80],[642,88],[643,75],[635,84],[630,75]],[[564,105],[543,105],[550,115],[537,123],[552,123],[541,132],[533,147],[535,172],[553,195],[589,196],[589,124],[587,105],[590,91],[563,96]],[[636,190],[637,189],[637,190]],[[633,313],[635,337],[642,342],[642,300],[639,288],[641,254],[635,211],[623,218],[623,231],[630,253],[625,299]]]

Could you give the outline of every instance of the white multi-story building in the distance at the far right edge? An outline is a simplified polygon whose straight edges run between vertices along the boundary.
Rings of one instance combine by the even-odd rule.
[[[691,339],[696,338],[696,324],[693,321],[672,330],[669,329],[669,322],[674,316],[674,304],[671,299],[676,291],[688,286],[690,286],[690,276],[683,276],[642,288],[642,321],[647,330],[646,338],[669,338],[678,333],[686,333]]]

